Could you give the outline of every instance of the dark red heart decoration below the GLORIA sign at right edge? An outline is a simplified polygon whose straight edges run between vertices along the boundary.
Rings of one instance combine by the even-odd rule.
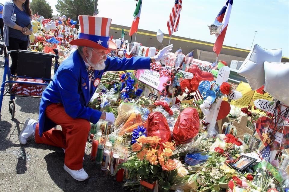
[[[260,117],[256,121],[256,132],[258,133],[259,137],[263,141],[264,137],[263,134],[266,134],[267,130],[272,132],[272,129],[275,127],[274,120],[271,124],[271,119],[269,117]],[[271,126],[270,126],[271,124]],[[282,132],[283,131],[283,132]],[[280,146],[281,143],[281,146]],[[265,146],[268,145],[267,142],[263,142]],[[284,126],[280,128],[278,132],[275,134],[274,142],[270,145],[270,151],[273,150],[283,150],[289,148],[289,127]]]

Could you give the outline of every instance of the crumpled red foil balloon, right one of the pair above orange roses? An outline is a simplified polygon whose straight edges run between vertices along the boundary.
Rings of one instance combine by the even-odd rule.
[[[176,144],[190,142],[198,134],[200,119],[195,108],[188,107],[182,111],[174,127],[173,137]]]

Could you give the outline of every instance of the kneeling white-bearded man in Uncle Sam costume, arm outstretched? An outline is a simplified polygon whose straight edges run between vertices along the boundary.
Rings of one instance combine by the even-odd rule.
[[[62,62],[53,80],[42,94],[39,123],[27,119],[19,135],[25,145],[28,137],[35,135],[36,143],[61,147],[65,152],[64,170],[74,179],[83,181],[88,174],[82,168],[85,144],[90,123],[99,119],[113,124],[113,113],[100,112],[87,107],[101,76],[106,71],[150,69],[150,63],[160,61],[172,45],[150,57],[117,58],[107,54],[117,49],[109,39],[111,19],[97,16],[78,16],[80,33],[70,42],[78,46]],[[62,130],[54,129],[61,125]]]

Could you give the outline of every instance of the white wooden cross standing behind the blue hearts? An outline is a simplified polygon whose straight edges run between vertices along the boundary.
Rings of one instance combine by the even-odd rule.
[[[216,79],[216,84],[219,86],[223,82],[228,81],[230,75],[230,68],[228,66],[222,67]],[[223,100],[223,96],[221,98],[216,98],[216,101],[211,105],[211,113],[206,117],[206,123],[210,123],[208,125],[207,133],[210,137],[212,137],[215,133],[215,125],[217,122],[218,113],[221,107],[221,103]]]

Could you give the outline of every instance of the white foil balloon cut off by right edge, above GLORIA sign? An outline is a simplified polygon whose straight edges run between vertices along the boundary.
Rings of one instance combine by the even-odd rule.
[[[272,63],[265,62],[265,86],[264,90],[274,98],[289,106],[289,62]]]

